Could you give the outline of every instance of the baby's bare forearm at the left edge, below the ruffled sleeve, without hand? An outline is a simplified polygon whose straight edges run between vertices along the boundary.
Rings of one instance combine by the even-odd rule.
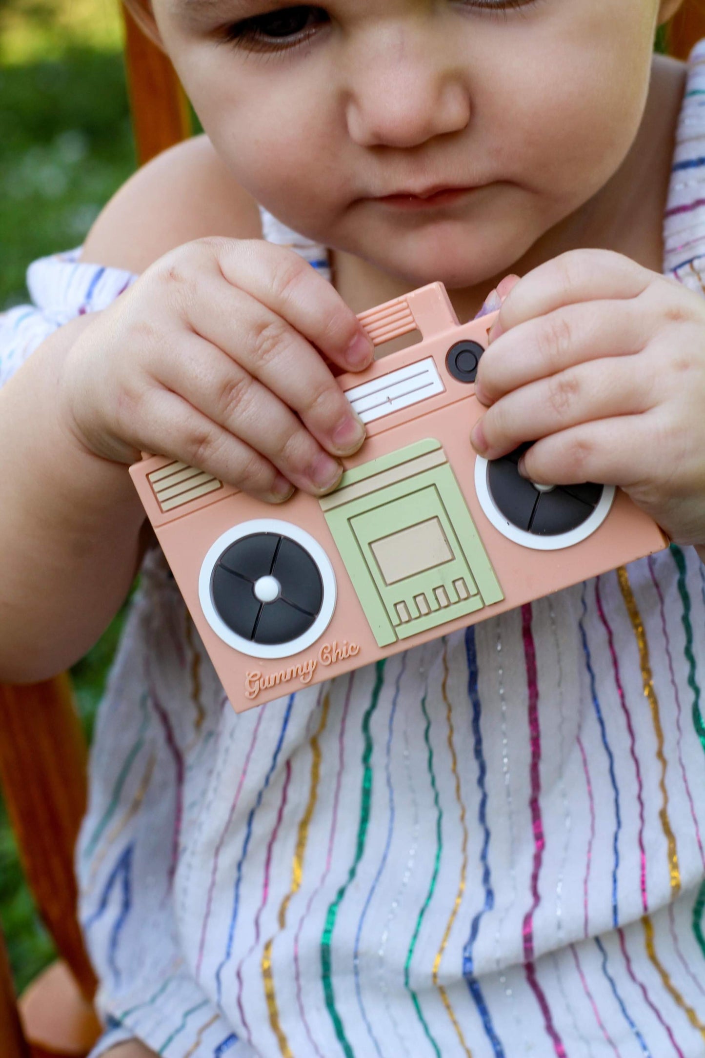
[[[58,378],[82,316],[0,390],[0,679],[44,679],[95,642],[125,599],[144,522],[126,468],[67,428]]]

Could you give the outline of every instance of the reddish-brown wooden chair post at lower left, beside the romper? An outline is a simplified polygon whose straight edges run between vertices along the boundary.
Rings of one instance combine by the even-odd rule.
[[[73,865],[86,811],[86,768],[67,674],[32,686],[0,686],[0,781],[24,874],[61,956],[90,1000],[96,982],[76,917]]]

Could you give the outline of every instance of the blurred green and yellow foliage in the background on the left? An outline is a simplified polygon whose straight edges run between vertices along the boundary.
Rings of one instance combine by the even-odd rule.
[[[117,0],[0,0],[0,310],[30,261],[79,245],[134,169]],[[73,670],[90,738],[124,614]],[[0,802],[0,919],[22,989],[54,957]]]

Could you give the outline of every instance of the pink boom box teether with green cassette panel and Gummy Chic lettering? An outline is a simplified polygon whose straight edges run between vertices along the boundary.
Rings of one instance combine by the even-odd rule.
[[[273,506],[162,456],[130,469],[238,712],[667,546],[620,490],[475,455],[496,315],[460,326],[440,282],[361,313],[375,345],[422,341],[338,377],[368,436],[320,499]]]

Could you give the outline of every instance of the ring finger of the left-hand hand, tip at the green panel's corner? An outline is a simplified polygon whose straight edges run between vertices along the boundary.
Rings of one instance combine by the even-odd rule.
[[[342,466],[291,408],[199,335],[179,336],[174,354],[160,362],[156,382],[262,453],[297,488],[320,494],[339,479]]]

